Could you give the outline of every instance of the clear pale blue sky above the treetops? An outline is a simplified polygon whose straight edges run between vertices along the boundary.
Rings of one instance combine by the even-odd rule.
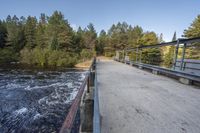
[[[86,27],[90,22],[97,32],[112,24],[127,22],[144,31],[163,33],[171,41],[174,32],[180,38],[184,29],[200,14],[200,0],[0,0],[0,19],[7,15],[50,16],[61,11],[71,26]]]

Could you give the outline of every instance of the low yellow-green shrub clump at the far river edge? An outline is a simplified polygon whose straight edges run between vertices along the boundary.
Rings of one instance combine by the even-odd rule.
[[[40,67],[72,67],[77,62],[76,54],[61,50],[35,48],[33,50],[23,49],[20,53],[21,63]]]

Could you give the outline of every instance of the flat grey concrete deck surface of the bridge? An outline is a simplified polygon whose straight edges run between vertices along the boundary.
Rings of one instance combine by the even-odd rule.
[[[101,133],[199,133],[200,89],[118,63],[97,63]]]

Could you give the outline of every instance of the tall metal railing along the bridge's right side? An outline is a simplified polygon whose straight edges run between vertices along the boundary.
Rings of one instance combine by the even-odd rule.
[[[185,66],[185,62],[187,61],[185,59],[185,53],[186,53],[186,48],[187,47],[192,47],[194,43],[200,43],[200,37],[198,38],[191,38],[191,39],[178,39],[177,41],[172,41],[172,42],[166,42],[166,43],[161,43],[161,44],[155,44],[155,45],[147,45],[147,46],[139,46],[137,48],[126,48],[124,50],[118,50],[116,51],[116,55],[117,57],[115,58],[115,60],[120,61],[120,62],[124,62],[127,64],[131,64],[140,68],[145,68],[145,69],[149,69],[149,70],[156,70],[161,74],[165,74],[165,75],[171,75],[174,77],[182,77],[182,78],[186,78],[192,81],[197,81],[200,82],[200,75],[197,72],[193,72],[193,73],[189,73],[184,71],[185,68],[187,68]],[[180,44],[182,45],[182,54],[181,54],[181,59],[178,59],[178,52],[179,52],[179,47]],[[174,58],[173,58],[173,67],[172,69],[169,68],[164,68],[164,67],[160,67],[160,66],[156,66],[156,65],[151,65],[151,64],[146,64],[146,63],[142,63],[142,50],[143,49],[150,49],[150,48],[159,48],[159,47],[163,47],[163,46],[176,46],[175,47],[175,51],[174,51]],[[127,53],[128,52],[135,52],[136,53],[136,61],[130,61],[129,59],[127,59]],[[119,53],[122,53],[122,59],[119,58]],[[200,53],[200,51],[199,51]],[[199,63],[199,61],[198,61]],[[197,64],[197,63],[196,63]],[[179,67],[179,69],[177,68],[177,65]],[[198,68],[195,68],[198,67]],[[190,67],[190,69],[195,69],[195,70],[200,70],[199,66],[195,66],[195,67]]]

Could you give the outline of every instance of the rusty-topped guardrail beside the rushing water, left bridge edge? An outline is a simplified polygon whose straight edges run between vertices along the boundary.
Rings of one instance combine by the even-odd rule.
[[[91,125],[89,125],[89,128],[91,128],[89,130],[93,130],[94,133],[100,133],[100,114],[99,114],[99,101],[98,101],[98,90],[97,90],[97,76],[95,73],[96,73],[96,58],[93,59],[92,64],[89,68],[89,71],[86,74],[82,85],[80,86],[79,92],[72,102],[72,105],[69,109],[67,117],[60,129],[60,133],[71,133],[77,112],[81,106],[80,104],[84,103],[86,101],[84,98],[86,97],[87,94],[90,93],[90,95],[91,95],[91,93],[93,93],[93,92],[94,92],[94,98],[93,98],[94,102],[92,102],[92,103],[94,103],[94,106],[93,105],[91,106],[91,104],[90,104],[89,106],[91,108],[91,111],[85,112],[85,113],[93,112],[93,116],[92,116],[93,118],[88,119],[89,121],[91,121],[89,123],[93,124],[92,128],[91,128]],[[91,85],[94,86],[94,88],[91,87]],[[88,105],[85,105],[85,106],[88,106]],[[86,107],[82,107],[81,110],[86,111],[85,108]],[[84,115],[84,114],[81,114],[81,115]],[[87,117],[88,116],[91,117],[91,114],[87,115]],[[81,118],[83,118],[83,117],[81,117]],[[88,124],[88,123],[86,123],[85,119],[81,120],[81,121],[84,122],[84,125]],[[81,125],[80,125],[80,127],[81,127]],[[87,127],[88,127],[88,125],[87,125]],[[82,132],[82,131],[80,131],[80,132]]]

